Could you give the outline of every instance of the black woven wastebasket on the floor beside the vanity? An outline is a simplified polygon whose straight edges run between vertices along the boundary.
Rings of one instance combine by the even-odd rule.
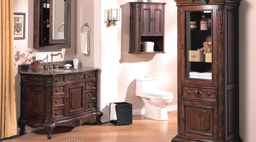
[[[120,126],[132,124],[132,104],[126,102],[114,103],[116,105],[117,120],[110,120],[110,123]],[[109,103],[109,106],[111,103]],[[110,113],[110,112],[109,112]]]

